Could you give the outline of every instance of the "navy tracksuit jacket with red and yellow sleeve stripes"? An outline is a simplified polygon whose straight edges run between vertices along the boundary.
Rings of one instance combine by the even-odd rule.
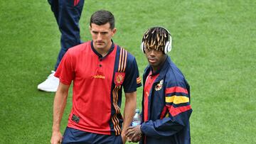
[[[144,84],[150,71],[151,67],[146,67]],[[142,101],[143,135],[140,143],[191,143],[188,120],[192,109],[188,82],[169,56],[156,74],[159,76],[149,94],[149,121],[144,121],[144,100]]]

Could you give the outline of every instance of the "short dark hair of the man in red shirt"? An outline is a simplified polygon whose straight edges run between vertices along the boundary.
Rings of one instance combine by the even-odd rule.
[[[110,11],[100,10],[92,14],[90,18],[90,27],[92,23],[95,23],[99,26],[110,23],[110,28],[114,28],[114,16]]]

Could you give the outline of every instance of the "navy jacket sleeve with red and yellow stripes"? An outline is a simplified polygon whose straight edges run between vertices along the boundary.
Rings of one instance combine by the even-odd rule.
[[[165,105],[161,111],[161,118],[142,123],[142,133],[146,136],[161,138],[174,135],[188,125],[192,113],[189,85],[185,79],[183,82],[166,85]]]

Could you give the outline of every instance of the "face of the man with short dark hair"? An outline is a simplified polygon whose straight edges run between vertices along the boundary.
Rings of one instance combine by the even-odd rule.
[[[90,33],[92,35],[93,46],[96,50],[105,50],[111,47],[111,38],[116,33],[117,29],[111,29],[110,23],[97,25],[91,23]]]

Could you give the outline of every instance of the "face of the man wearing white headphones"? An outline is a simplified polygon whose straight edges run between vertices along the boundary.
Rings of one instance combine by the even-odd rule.
[[[149,65],[153,67],[153,70],[159,70],[161,64],[166,59],[166,55],[161,50],[155,50],[153,48],[145,48],[145,55],[149,62]]]

